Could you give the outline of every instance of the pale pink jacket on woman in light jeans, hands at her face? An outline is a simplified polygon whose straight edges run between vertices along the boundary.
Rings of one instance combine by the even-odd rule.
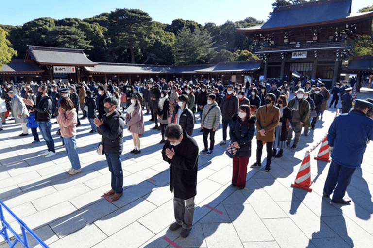
[[[57,123],[60,125],[61,136],[68,138],[76,135],[76,124],[78,124],[78,113],[75,109],[65,111],[58,110]]]

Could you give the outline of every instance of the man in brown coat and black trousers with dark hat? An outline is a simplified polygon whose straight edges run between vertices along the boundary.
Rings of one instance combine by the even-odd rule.
[[[271,171],[272,147],[274,141],[274,129],[280,121],[280,109],[274,106],[276,96],[268,93],[264,99],[264,106],[259,107],[256,112],[256,162],[251,168],[261,167],[262,150],[267,145],[267,163],[265,171]]]

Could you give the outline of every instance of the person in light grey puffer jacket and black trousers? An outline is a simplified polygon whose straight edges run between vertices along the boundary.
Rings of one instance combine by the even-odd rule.
[[[201,129],[203,129],[203,145],[202,154],[211,155],[215,144],[215,131],[220,124],[220,108],[216,103],[215,94],[209,94],[207,104],[203,107],[201,118]],[[210,135],[210,150],[208,150],[207,137]]]

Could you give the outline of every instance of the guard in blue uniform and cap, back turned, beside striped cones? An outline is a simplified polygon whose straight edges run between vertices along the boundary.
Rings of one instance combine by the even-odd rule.
[[[334,190],[334,203],[351,202],[343,197],[356,167],[360,165],[367,140],[373,140],[373,120],[367,116],[372,107],[372,103],[356,99],[354,109],[337,116],[329,128],[328,143],[329,150],[333,151],[333,160],[325,181],[323,196],[329,198]]]

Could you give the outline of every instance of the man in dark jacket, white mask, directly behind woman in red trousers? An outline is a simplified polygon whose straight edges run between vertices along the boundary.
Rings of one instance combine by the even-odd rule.
[[[226,145],[228,125],[230,125],[232,122],[232,116],[238,113],[238,97],[235,95],[233,91],[233,85],[231,84],[227,86],[227,93],[225,94],[223,102],[221,103],[221,113],[221,123],[223,124],[223,140],[220,142],[220,145]]]

